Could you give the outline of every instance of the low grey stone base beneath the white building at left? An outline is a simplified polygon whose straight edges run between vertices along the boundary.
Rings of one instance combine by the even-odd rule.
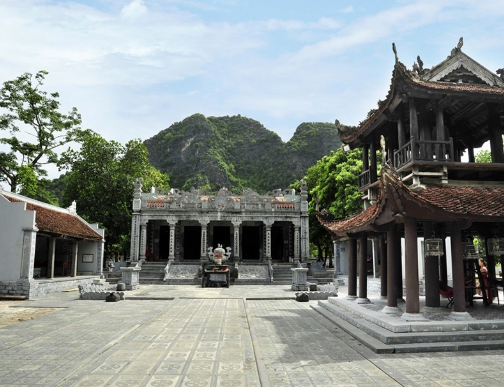
[[[62,292],[69,289],[77,289],[79,285],[90,284],[100,276],[83,276],[83,277],[67,277],[54,278],[52,280],[32,280],[32,281],[17,281],[17,282],[0,282],[0,294],[26,296],[28,299],[38,296]]]

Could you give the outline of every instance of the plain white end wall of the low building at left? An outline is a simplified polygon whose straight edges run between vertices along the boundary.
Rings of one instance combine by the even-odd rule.
[[[25,203],[11,203],[0,196],[0,281],[17,281],[21,275],[23,229],[35,227],[35,212]]]

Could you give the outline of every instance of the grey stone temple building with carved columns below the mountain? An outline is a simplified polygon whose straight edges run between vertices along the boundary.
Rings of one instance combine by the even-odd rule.
[[[221,244],[231,249],[228,264],[234,273],[240,265],[241,278],[246,277],[247,267],[255,273],[249,279],[269,282],[268,263],[294,264],[308,259],[307,197],[304,182],[300,195],[294,189],[276,189],[266,195],[245,190],[234,195],[227,188],[208,195],[195,188],[143,192],[142,180],[137,179],[131,260],[170,262],[168,283],[176,282],[177,270],[179,280],[198,281],[209,248]],[[144,264],[144,273],[145,269]]]

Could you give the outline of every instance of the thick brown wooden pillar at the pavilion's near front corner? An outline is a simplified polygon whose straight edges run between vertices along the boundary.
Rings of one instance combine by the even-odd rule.
[[[418,291],[418,234],[416,219],[404,218],[404,238],[406,257],[406,315],[420,313]]]

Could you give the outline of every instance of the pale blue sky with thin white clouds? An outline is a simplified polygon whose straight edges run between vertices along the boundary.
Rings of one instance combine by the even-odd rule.
[[[500,0],[0,0],[0,15],[0,83],[48,71],[62,112],[121,143],[194,113],[284,141],[301,122],[356,125],[387,95],[392,42],[428,68],[463,36],[504,67]]]

